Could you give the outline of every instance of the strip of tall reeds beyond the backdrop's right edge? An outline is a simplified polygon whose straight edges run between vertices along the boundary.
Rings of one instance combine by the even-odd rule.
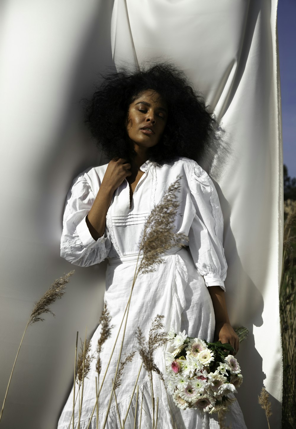
[[[296,201],[284,202],[284,251],[280,287],[283,348],[282,426],[296,427]]]

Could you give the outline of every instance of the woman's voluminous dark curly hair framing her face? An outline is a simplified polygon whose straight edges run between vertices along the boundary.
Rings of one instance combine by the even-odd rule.
[[[85,122],[98,148],[107,157],[132,160],[135,151],[126,131],[129,105],[142,91],[158,92],[168,106],[168,120],[159,143],[149,149],[149,159],[162,165],[176,157],[200,161],[215,139],[217,121],[185,74],[170,63],[140,71],[123,70],[103,76],[91,100],[86,101]]]

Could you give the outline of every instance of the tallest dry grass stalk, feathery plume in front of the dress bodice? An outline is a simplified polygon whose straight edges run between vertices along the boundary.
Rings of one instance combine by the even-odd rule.
[[[103,380],[101,382],[101,386],[98,389],[98,395],[96,398],[96,402],[94,405],[94,408],[92,410],[92,414],[90,416],[87,429],[89,429],[89,426],[91,424],[92,417],[95,413],[95,410],[97,409],[97,404],[99,401],[100,393],[102,390],[102,387],[104,385],[104,380],[106,378],[109,365],[113,356],[113,352],[115,349],[115,346],[117,344],[117,340],[119,337],[119,333],[122,329],[123,325],[123,333],[122,333],[122,341],[120,344],[119,349],[119,356],[117,360],[116,370],[114,374],[113,379],[113,385],[112,390],[110,393],[110,398],[107,406],[107,413],[104,419],[103,427],[105,428],[107,424],[107,419],[110,411],[110,407],[114,398],[114,392],[116,389],[116,384],[118,383],[118,375],[119,375],[119,367],[121,363],[121,356],[122,356],[122,347],[125,339],[125,330],[127,326],[127,320],[128,320],[128,313],[131,303],[131,296],[132,292],[134,290],[134,285],[137,280],[137,276],[139,274],[144,274],[147,272],[152,272],[156,270],[156,266],[163,262],[162,255],[171,249],[174,246],[182,247],[184,244],[181,244],[181,242],[188,241],[188,237],[184,234],[177,234],[174,231],[174,221],[177,215],[177,210],[179,208],[177,193],[180,190],[180,177],[178,176],[176,181],[174,181],[169,187],[167,192],[165,193],[162,202],[160,202],[158,205],[156,205],[153,210],[151,211],[149,217],[147,218],[147,221],[143,228],[143,234],[142,239],[139,246],[139,254],[137,258],[137,263],[134,271],[134,278],[131,284],[131,291],[128,298],[127,305],[125,307],[125,312],[122,317],[121,324],[119,326],[119,330],[113,345],[113,349],[110,353],[110,359],[107,364],[107,368],[105,370]],[[141,368],[139,370],[138,377],[140,375]],[[134,390],[136,389],[136,385],[134,387]],[[134,393],[133,393],[134,394]],[[131,405],[131,404],[130,404]],[[130,406],[129,405],[129,406]],[[128,412],[128,411],[127,411]],[[98,412],[97,412],[98,415]],[[127,417],[127,415],[126,415]],[[125,417],[125,419],[126,419]],[[125,419],[123,420],[123,426]]]

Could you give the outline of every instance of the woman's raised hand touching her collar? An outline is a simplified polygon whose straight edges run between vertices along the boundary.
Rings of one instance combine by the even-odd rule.
[[[108,163],[101,186],[109,188],[114,192],[125,178],[131,175],[131,164],[123,158],[114,158]]]

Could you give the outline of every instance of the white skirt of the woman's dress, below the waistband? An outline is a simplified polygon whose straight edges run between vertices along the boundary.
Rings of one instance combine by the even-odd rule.
[[[100,385],[128,302],[136,263],[137,255],[128,255],[126,257],[123,256],[121,258],[110,259],[107,266],[104,301],[107,304],[107,310],[111,316],[110,324],[113,328],[111,330],[111,336],[104,343],[100,354]],[[117,429],[121,427],[119,416],[121,421],[125,419],[125,429],[133,429],[135,413],[136,428],[141,427],[141,429],[152,429],[152,397],[150,379],[143,366],[140,371],[140,375],[138,376],[141,366],[141,358],[138,353],[139,346],[137,344],[136,333],[137,328],[140,327],[143,336],[148,339],[151,323],[158,314],[164,316],[162,322],[164,323],[165,331],[173,330],[174,332],[179,332],[185,329],[186,333],[190,337],[198,337],[207,341],[213,341],[215,316],[211,296],[204,283],[203,276],[198,273],[192,257],[186,248],[182,248],[177,251],[175,249],[171,254],[164,255],[162,257],[162,264],[157,266],[154,272],[140,274],[137,277],[131,296],[121,359],[124,359],[125,356],[133,351],[136,351],[136,353],[132,361],[128,362],[124,368],[121,385],[116,389],[118,411],[115,400],[113,399],[105,425],[107,429]],[[86,429],[90,419],[91,424],[89,428],[102,429],[104,427],[108,402],[112,390],[112,379],[114,378],[116,371],[116,364],[122,341],[123,326],[124,324],[122,324],[122,328],[119,332],[116,347],[100,393],[98,424],[96,422],[96,411],[93,413],[93,409],[96,401],[96,349],[98,338],[101,335],[100,325],[92,336],[91,349],[92,353],[95,355],[95,359],[92,361],[90,371],[84,381],[80,429]],[[165,373],[164,359],[165,349],[164,347],[161,347],[155,351],[154,361],[163,374]],[[131,395],[134,390],[137,376],[139,395],[136,409],[137,390],[135,390],[133,396]],[[76,384],[76,393],[77,392],[78,386]],[[174,419],[177,429],[220,428],[215,415],[210,417],[209,415],[202,414],[200,411],[195,409],[187,408],[186,410],[180,410],[177,408],[171,397],[167,396],[163,383],[160,380],[159,375],[156,373],[153,373],[153,393],[155,404],[158,398],[158,429],[171,429],[172,418]],[[143,405],[141,413],[142,396]],[[126,415],[130,401],[131,407]],[[67,429],[68,427],[70,427],[70,429],[76,429],[78,427],[78,400],[76,401],[74,412],[74,428],[72,423],[70,423],[72,421],[72,411],[73,388],[61,413],[61,417],[58,422],[58,429]],[[226,426],[231,423],[233,429],[246,428],[237,402],[234,402],[230,407],[230,411],[226,415],[225,423]]]

